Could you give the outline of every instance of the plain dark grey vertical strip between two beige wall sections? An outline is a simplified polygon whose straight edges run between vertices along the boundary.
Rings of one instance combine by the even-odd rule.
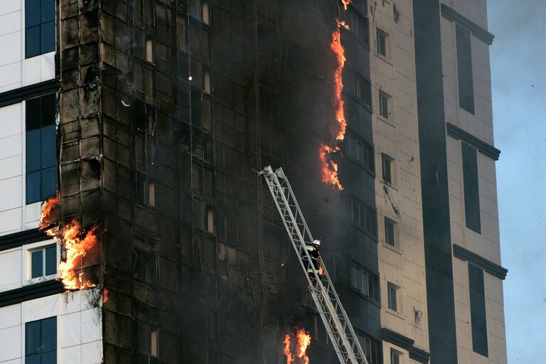
[[[430,360],[457,363],[438,0],[414,1]]]

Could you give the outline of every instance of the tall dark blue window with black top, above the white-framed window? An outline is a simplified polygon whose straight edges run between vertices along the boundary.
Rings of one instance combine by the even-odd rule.
[[[26,100],[26,203],[55,196],[57,139],[55,94]]]

